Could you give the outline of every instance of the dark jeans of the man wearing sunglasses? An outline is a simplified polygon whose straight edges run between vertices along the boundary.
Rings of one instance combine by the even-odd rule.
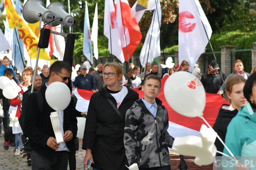
[[[65,170],[68,169],[68,151],[55,151],[54,159],[48,158],[40,153],[31,151],[32,170]]]

